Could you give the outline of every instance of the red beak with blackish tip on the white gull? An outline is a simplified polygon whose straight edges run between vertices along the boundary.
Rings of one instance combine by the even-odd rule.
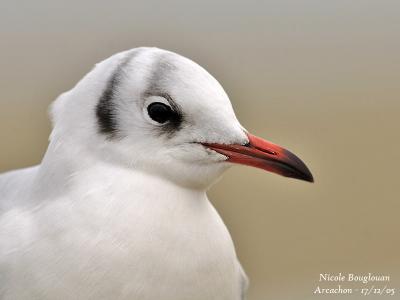
[[[228,157],[227,161],[260,168],[286,177],[314,182],[307,166],[290,151],[247,133],[249,143],[246,145],[203,145]]]

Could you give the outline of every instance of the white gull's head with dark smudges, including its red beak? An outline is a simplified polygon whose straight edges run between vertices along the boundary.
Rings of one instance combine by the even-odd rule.
[[[157,48],[97,64],[57,99],[52,115],[51,139],[69,155],[84,152],[184,186],[208,187],[233,163],[313,180],[294,154],[243,128],[206,70]]]

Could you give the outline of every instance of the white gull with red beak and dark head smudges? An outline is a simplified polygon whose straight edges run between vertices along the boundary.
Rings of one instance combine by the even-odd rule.
[[[51,106],[40,165],[0,176],[0,298],[240,300],[248,280],[207,198],[232,164],[313,181],[250,134],[195,62],[134,48]]]

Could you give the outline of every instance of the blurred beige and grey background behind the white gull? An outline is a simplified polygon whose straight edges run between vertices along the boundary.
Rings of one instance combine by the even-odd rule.
[[[363,299],[314,296],[320,273],[390,275],[400,288],[400,3],[261,2],[1,1],[0,171],[40,162],[48,105],[96,62],[170,49],[316,179],[236,167],[212,189],[249,299]]]

